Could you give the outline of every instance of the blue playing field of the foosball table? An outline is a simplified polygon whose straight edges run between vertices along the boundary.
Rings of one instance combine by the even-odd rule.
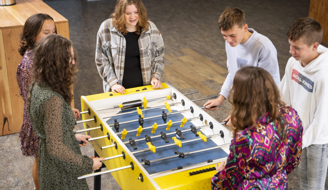
[[[157,108],[157,109],[144,111],[143,115],[145,118],[156,116],[156,115],[161,115],[162,110],[165,110],[165,113],[168,113],[168,110],[166,110],[166,109]],[[130,111],[130,110],[123,110],[119,113],[126,112],[126,111]],[[176,110],[172,109],[172,111],[175,112]],[[172,120],[172,122],[181,121],[181,119],[183,119],[183,117],[184,116],[181,113],[170,115],[170,116],[167,116],[167,122],[169,120]],[[106,123],[113,124],[114,119],[116,119],[117,122],[120,123],[120,122],[138,119],[138,115],[137,114],[127,114],[127,115],[122,115],[122,116],[116,116],[114,118],[109,119]],[[154,123],[157,123],[159,125],[159,124],[164,124],[164,121],[163,121],[162,117],[144,120],[143,127],[152,126],[152,125],[154,125]],[[156,129],[155,133],[151,133],[152,129],[145,129],[141,132],[140,136],[138,136],[138,137],[136,136],[137,132],[131,132],[131,133],[128,133],[125,136],[125,139],[122,141],[123,142],[129,141],[130,137],[133,140],[142,139],[142,138],[145,138],[145,134],[147,134],[148,136],[160,135],[160,131],[163,131],[164,133],[175,132],[176,128],[178,128],[178,130],[190,129],[190,125],[192,125],[191,122],[186,122],[183,127],[180,127],[180,124],[181,123],[173,124],[169,130],[166,130],[166,125],[160,126]],[[119,131],[123,131],[123,129],[126,129],[127,131],[135,130],[138,127],[139,127],[138,121],[133,122],[133,123],[128,123],[128,124],[120,124]],[[113,130],[115,130],[114,127],[113,127]],[[199,131],[199,130],[197,130],[197,131]],[[178,136],[176,136],[175,134],[174,135],[172,134],[172,135],[167,135],[167,140],[169,140],[169,143],[165,143],[165,141],[161,137],[152,138],[151,142],[155,147],[158,147],[158,146],[162,146],[165,144],[174,143],[174,140],[172,139],[172,137],[177,137],[177,139],[182,142],[186,141],[186,140],[197,139],[197,138],[200,139],[200,137],[199,136],[196,137],[192,131],[183,132],[182,135],[184,137],[183,140],[179,139]],[[136,150],[133,150],[133,147],[130,144],[126,144],[126,146],[133,153],[135,151],[140,151],[145,148],[148,148],[148,145],[146,143],[147,143],[146,140],[135,142],[135,146],[137,147]],[[155,153],[153,153],[152,151],[141,152],[141,153],[134,154],[134,156],[139,160],[139,162],[142,162],[141,159],[146,159],[148,161],[151,161],[151,160],[156,160],[156,159],[176,155],[174,153],[175,151],[185,153],[188,151],[191,152],[191,151],[209,148],[209,147],[213,147],[213,146],[217,146],[217,144],[214,143],[211,139],[207,139],[207,142],[199,140],[199,141],[195,141],[195,142],[183,143],[182,147],[174,145],[174,146],[170,146],[170,147],[156,149]],[[154,173],[170,170],[172,168],[176,168],[179,166],[182,166],[182,167],[188,166],[188,165],[196,164],[199,162],[205,162],[207,160],[214,160],[217,158],[223,158],[223,157],[227,157],[227,156],[228,156],[228,154],[225,151],[223,151],[221,148],[216,148],[213,150],[208,150],[208,151],[204,151],[204,152],[200,152],[200,153],[191,154],[189,156],[185,156],[184,158],[176,157],[176,158],[172,158],[172,159],[168,159],[168,160],[154,162],[154,163],[151,163],[150,166],[145,165],[144,167],[149,174],[154,174]]]

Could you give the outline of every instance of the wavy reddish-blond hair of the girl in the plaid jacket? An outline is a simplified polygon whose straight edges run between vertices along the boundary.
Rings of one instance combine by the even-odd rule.
[[[120,31],[123,35],[127,34],[129,31],[125,28],[125,9],[127,5],[135,5],[139,14],[139,21],[137,23],[136,34],[140,34],[141,31],[148,30],[149,22],[147,16],[147,10],[141,0],[118,0],[115,6],[114,12],[110,15],[113,18],[113,26]]]

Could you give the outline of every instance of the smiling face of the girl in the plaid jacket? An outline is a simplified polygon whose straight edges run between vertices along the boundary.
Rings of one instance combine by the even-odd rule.
[[[129,32],[133,32],[137,30],[137,23],[139,21],[139,13],[138,13],[138,9],[135,7],[134,4],[131,5],[127,5],[125,7],[125,13],[124,13],[124,17],[125,17],[125,28],[129,31]]]

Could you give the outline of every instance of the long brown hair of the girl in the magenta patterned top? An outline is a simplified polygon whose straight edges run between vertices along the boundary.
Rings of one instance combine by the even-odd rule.
[[[283,115],[279,108],[279,90],[271,74],[260,67],[247,66],[236,72],[229,102],[232,104],[231,123],[234,136],[250,125],[258,126],[256,118],[269,113],[272,122],[277,124],[281,140],[286,140]]]

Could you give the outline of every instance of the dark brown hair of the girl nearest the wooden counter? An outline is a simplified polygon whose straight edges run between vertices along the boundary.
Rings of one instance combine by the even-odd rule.
[[[24,24],[23,31],[19,35],[20,44],[18,48],[19,54],[23,56],[27,49],[33,49],[35,46],[35,37],[40,33],[45,20],[52,19],[48,14],[36,13],[30,16]],[[57,28],[55,25],[55,33]]]

